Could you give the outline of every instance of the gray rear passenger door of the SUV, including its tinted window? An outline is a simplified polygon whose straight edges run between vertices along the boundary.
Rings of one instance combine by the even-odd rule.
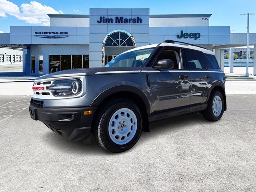
[[[184,49],[184,56],[184,68],[189,70],[191,76],[190,105],[205,103],[214,76],[208,71],[200,51]]]

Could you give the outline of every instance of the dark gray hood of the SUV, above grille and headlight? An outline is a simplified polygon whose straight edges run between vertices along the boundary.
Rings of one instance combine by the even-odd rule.
[[[85,76],[85,75],[102,75],[102,74],[126,74],[140,73],[142,67],[97,67],[63,70],[55,73],[46,74],[36,78],[35,80],[68,77],[68,76]]]

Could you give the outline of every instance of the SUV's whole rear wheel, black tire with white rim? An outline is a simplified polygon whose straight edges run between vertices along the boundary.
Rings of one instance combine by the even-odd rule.
[[[214,90],[208,100],[208,106],[206,110],[202,112],[204,118],[208,121],[218,121],[222,117],[224,112],[224,99],[222,94]]]

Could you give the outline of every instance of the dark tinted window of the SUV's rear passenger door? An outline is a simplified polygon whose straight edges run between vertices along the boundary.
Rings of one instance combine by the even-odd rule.
[[[185,49],[186,69],[204,69],[202,57],[195,50]]]

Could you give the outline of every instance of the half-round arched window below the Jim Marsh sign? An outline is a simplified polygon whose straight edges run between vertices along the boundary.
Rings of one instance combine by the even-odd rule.
[[[134,47],[131,37],[124,32],[114,32],[108,36],[105,46],[107,47]]]

